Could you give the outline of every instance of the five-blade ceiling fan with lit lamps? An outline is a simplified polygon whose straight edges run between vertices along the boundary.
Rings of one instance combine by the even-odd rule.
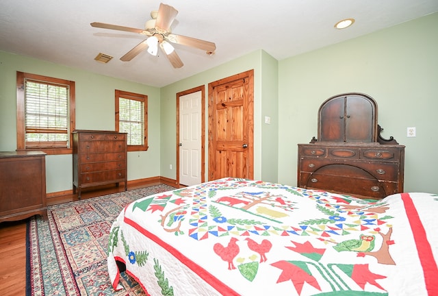
[[[207,51],[207,54],[212,54],[216,50],[214,42],[209,42],[201,39],[196,39],[188,36],[172,34],[170,25],[175,20],[178,10],[170,5],[160,3],[158,11],[151,12],[151,20],[146,21],[145,29],[136,29],[133,27],[123,27],[120,25],[110,25],[106,23],[90,23],[92,27],[103,29],[114,29],[118,31],[133,32],[148,36],[140,42],[136,47],[128,51],[125,56],[120,58],[123,62],[128,62],[135,58],[140,52],[147,49],[153,56],[157,56],[158,47],[162,49],[170,64],[174,68],[181,68],[183,62],[175,52],[175,48],[170,44],[175,43],[202,49]]]

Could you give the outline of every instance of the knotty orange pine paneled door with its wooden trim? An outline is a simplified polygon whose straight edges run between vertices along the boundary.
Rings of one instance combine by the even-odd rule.
[[[209,84],[208,177],[253,179],[254,71]]]

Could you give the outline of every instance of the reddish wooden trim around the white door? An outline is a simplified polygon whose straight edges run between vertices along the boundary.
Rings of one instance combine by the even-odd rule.
[[[177,93],[177,184],[179,185],[179,97],[201,91],[201,183],[205,182],[205,86],[197,86]]]

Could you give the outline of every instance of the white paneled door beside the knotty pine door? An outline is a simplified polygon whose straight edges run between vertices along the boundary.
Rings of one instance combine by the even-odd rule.
[[[179,184],[201,183],[201,91],[179,97]]]

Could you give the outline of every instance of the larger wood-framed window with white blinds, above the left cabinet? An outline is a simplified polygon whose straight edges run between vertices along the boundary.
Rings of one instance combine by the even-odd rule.
[[[17,150],[72,153],[75,82],[16,73]]]

